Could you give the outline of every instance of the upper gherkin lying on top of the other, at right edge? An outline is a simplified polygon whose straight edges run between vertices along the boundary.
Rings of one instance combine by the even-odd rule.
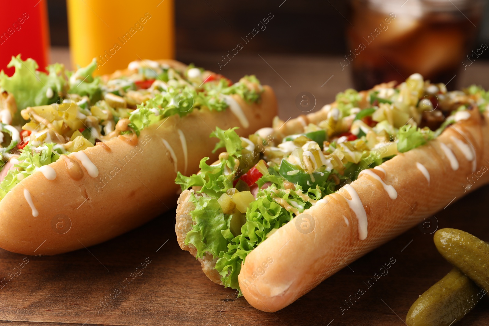
[[[448,262],[489,291],[489,244],[467,232],[449,228],[438,230],[434,240]]]

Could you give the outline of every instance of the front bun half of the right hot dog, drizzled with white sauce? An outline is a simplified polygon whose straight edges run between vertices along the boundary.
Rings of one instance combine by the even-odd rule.
[[[304,212],[315,221],[311,233],[299,232],[295,225],[297,217],[278,229],[246,256],[239,274],[240,288],[246,300],[263,311],[282,309],[346,264],[464,196],[467,177],[471,178],[472,173],[478,180],[470,190],[486,184],[489,174],[482,173],[481,169],[487,171],[488,167],[488,117],[485,114],[481,118],[478,110],[473,109],[469,120],[447,128],[428,144],[381,164],[385,174],[370,170],[394,187],[398,193],[396,199],[388,196],[378,180],[360,174],[351,186],[367,214],[366,239],[359,239],[356,214],[345,199],[351,199],[351,196],[344,187]],[[472,162],[460,151],[452,136],[473,145],[477,159],[475,172]],[[456,171],[442,150],[442,143],[455,154],[460,165]],[[429,185],[417,168],[417,162],[429,172]],[[266,268],[263,267],[264,262]],[[257,274],[263,270],[262,275]]]

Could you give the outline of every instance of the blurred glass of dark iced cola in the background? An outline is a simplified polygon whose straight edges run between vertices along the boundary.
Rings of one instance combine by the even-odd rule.
[[[402,82],[418,72],[433,83],[456,87],[456,75],[487,49],[469,54],[484,2],[479,0],[353,0],[350,51],[341,63],[352,68],[357,89]]]

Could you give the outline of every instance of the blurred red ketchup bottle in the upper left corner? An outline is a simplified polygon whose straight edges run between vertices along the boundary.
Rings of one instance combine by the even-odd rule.
[[[49,30],[46,0],[2,1],[0,10],[0,70],[8,75],[12,56],[32,58],[45,71],[49,63]]]

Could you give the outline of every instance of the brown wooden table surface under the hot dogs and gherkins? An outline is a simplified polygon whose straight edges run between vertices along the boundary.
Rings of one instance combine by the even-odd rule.
[[[60,53],[57,58],[66,60],[66,51]],[[216,69],[219,55],[182,57]],[[349,72],[341,71],[334,58],[262,57],[235,58],[222,73],[233,80],[245,73],[257,74],[276,90],[283,119],[301,113],[293,104],[298,92],[314,94],[318,109],[332,101],[334,93],[350,86]],[[462,84],[473,81],[488,87],[483,78],[489,66],[474,64],[470,68],[474,69],[467,69]],[[431,233],[454,227],[489,239],[487,202],[488,187],[453,202],[424,228],[414,227],[274,314],[254,309],[244,298],[236,299],[233,290],[203,275],[200,264],[178,247],[174,209],[128,234],[64,255],[25,258],[0,250],[0,277],[28,260],[21,273],[16,270],[19,275],[0,290],[0,320],[9,325],[39,326],[404,325],[410,305],[450,270],[436,251]],[[388,273],[369,287],[368,280],[391,258],[395,263]],[[124,287],[124,280],[145,261],[143,274]],[[344,301],[359,288],[366,293],[346,310]],[[489,300],[484,298],[457,325],[488,323]]]

